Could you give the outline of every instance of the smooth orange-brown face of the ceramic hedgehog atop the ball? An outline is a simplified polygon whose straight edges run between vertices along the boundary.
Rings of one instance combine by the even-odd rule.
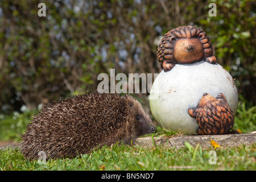
[[[179,39],[175,42],[174,59],[177,63],[193,63],[203,56],[204,49],[199,39]]]

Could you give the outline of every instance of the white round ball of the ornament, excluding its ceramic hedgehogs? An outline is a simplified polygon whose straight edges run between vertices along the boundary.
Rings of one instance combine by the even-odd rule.
[[[216,97],[219,93],[237,111],[238,93],[232,76],[219,64],[200,61],[176,64],[171,71],[160,72],[150,91],[150,109],[159,126],[186,134],[197,134],[196,119],[188,114],[204,93]]]

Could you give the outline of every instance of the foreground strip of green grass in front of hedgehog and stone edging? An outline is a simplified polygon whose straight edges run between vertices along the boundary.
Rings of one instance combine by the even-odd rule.
[[[24,159],[18,148],[0,151],[1,170],[255,170],[256,144],[232,148],[202,150],[184,147],[176,150],[156,146],[154,148],[130,147],[121,144],[103,147],[91,154],[77,158],[57,160]],[[210,151],[216,152],[216,164]]]

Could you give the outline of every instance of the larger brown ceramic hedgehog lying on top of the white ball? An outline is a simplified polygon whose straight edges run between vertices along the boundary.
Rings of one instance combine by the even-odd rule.
[[[161,71],[170,71],[175,64],[189,64],[205,60],[216,64],[207,34],[200,28],[181,26],[168,31],[158,46]]]

